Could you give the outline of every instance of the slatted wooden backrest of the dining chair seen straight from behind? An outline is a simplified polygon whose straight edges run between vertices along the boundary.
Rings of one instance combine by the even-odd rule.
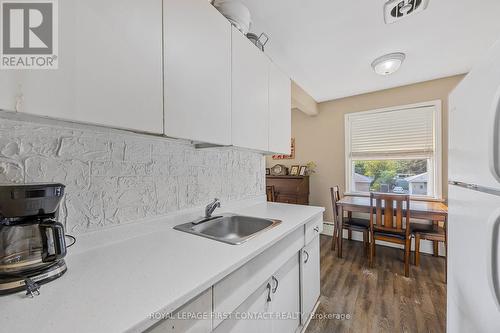
[[[370,228],[409,235],[409,195],[372,192],[370,193],[370,212]],[[405,213],[404,216],[403,213]],[[403,217],[405,217],[406,224],[403,224]]]

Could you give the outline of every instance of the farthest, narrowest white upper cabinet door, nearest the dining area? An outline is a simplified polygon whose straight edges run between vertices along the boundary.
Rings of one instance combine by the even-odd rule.
[[[275,64],[269,71],[269,151],[290,154],[292,131],[291,81]]]

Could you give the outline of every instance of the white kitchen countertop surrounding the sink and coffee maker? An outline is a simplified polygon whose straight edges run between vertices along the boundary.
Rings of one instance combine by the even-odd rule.
[[[42,285],[40,296],[0,297],[0,330],[141,331],[154,324],[151,313],[174,311],[323,211],[267,202],[229,210],[282,220],[241,245],[172,229],[192,214],[85,235],[68,249],[66,274]]]

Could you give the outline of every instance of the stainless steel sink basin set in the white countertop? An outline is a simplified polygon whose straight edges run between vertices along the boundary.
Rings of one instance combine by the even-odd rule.
[[[174,229],[237,245],[280,223],[280,220],[224,214],[197,224],[191,222],[179,224]]]

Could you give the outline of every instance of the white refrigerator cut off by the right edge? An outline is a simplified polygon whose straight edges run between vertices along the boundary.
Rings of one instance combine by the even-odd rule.
[[[447,331],[500,332],[500,42],[450,94]]]

